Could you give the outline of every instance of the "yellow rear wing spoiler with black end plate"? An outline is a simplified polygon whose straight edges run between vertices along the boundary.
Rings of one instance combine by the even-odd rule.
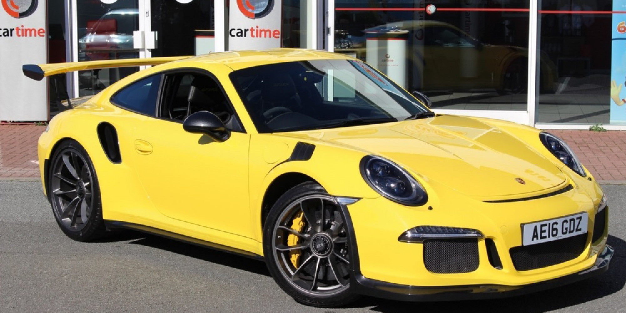
[[[24,64],[22,71],[24,75],[33,80],[43,80],[44,77],[55,74],[69,73],[73,71],[84,71],[86,69],[101,68],[127,68],[132,66],[148,66],[178,61],[179,59],[189,58],[189,56],[164,56],[161,58],[143,58],[143,59],[110,59],[102,61],[83,61],[68,63],[50,63],[50,64]]]

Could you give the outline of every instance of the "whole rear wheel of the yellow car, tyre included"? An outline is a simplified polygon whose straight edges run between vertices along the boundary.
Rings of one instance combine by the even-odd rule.
[[[77,241],[105,235],[98,178],[85,148],[74,140],[63,141],[49,171],[48,197],[61,230]]]

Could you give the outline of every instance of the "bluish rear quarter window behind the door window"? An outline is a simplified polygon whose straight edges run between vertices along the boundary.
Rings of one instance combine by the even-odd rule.
[[[156,96],[158,96],[160,82],[160,74],[136,81],[113,95],[111,102],[126,110],[155,115]]]

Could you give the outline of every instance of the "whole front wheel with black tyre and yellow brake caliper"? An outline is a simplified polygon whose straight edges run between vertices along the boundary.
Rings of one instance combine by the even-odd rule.
[[[263,248],[270,274],[298,302],[338,307],[359,298],[350,286],[346,218],[317,183],[301,183],[277,200],[265,220]]]

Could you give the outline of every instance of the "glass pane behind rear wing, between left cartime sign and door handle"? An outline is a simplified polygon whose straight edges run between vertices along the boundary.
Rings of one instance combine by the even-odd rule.
[[[139,30],[138,0],[77,1],[78,61],[138,58],[133,31]],[[139,68],[110,68],[78,72],[78,95],[95,95]]]

